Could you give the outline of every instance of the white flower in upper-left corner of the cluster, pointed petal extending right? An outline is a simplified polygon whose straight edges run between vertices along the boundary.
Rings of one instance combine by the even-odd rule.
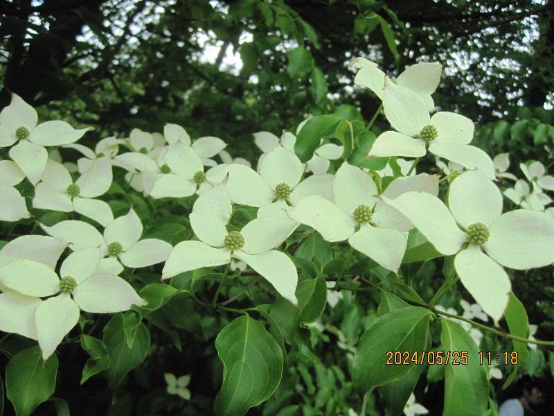
[[[0,147],[10,148],[9,155],[34,185],[48,161],[44,146],[60,146],[77,141],[91,128],[75,130],[65,121],[46,121],[37,125],[38,115],[17,94],[12,94],[8,107],[0,112]]]

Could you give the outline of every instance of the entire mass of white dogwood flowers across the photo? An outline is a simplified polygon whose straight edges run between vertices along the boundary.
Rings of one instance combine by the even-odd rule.
[[[240,261],[240,270],[247,265],[296,305],[298,272],[285,251],[297,229],[344,242],[350,254],[355,250],[369,257],[385,275],[400,273],[410,233],[417,230],[420,240],[438,253],[454,256],[461,284],[484,312],[472,317],[486,320],[486,313],[497,322],[511,287],[504,268],[525,270],[554,262],[553,209],[545,209],[554,178],[542,164],[531,162],[520,166],[530,185],[517,180],[508,173],[507,154],[492,160],[470,145],[470,119],[434,112],[431,94],[440,65],[415,64],[391,80],[373,62],[359,58],[355,64],[355,82],[382,99],[393,128],[382,132],[368,152],[369,159],[391,158],[380,171],[356,166],[343,155],[346,146],[329,137],[317,138],[304,163],[294,152],[299,139],[292,132],[254,134],[262,150],[256,170],[245,159],[233,159],[221,139],[193,141],[176,124],[166,124],[163,135],[134,129],[125,139],[108,137],[93,150],[75,143],[90,129],[75,130],[63,121],[37,125],[33,107],[13,94],[0,113],[0,146],[9,147],[10,157],[0,160],[0,220],[35,220],[16,188],[24,178],[34,187],[28,196],[31,211],[80,217],[52,225],[35,220],[35,228],[48,236],[20,236],[1,249],[0,329],[38,340],[48,358],[78,322],[80,311],[113,313],[145,306],[119,275],[125,267],[161,263],[161,279],[220,266],[225,278]],[[310,119],[296,135],[305,123]],[[45,146],[53,147],[50,153]],[[64,163],[60,150],[82,157],[76,164]],[[438,158],[439,173],[416,172],[427,153]],[[133,207],[115,218],[113,207],[100,199],[113,186],[114,167],[123,169],[125,186],[144,199],[192,197],[188,221],[195,238],[175,247],[141,239],[143,224]],[[442,173],[447,181],[441,180]],[[515,181],[514,187],[506,187],[506,180]],[[503,197],[521,209],[503,212]],[[255,216],[238,227],[233,214],[242,206],[255,210]],[[58,270],[66,248],[69,254]],[[175,387],[173,379],[172,391],[184,396],[186,385]]]

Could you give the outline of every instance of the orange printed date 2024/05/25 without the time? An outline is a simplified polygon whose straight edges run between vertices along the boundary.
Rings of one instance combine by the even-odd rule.
[[[467,365],[468,351],[387,351],[386,365]]]

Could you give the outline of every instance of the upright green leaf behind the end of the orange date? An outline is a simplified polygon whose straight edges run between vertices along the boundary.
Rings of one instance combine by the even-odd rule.
[[[450,351],[449,364],[445,365],[445,405],[443,416],[484,415],[488,407],[488,376],[486,366],[479,363],[477,346],[472,337],[456,322],[441,320],[443,331],[440,342],[445,356]],[[453,364],[452,352],[467,351],[467,365]]]

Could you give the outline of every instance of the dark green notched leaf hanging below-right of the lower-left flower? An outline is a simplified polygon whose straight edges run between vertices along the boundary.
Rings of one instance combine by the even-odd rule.
[[[141,365],[150,349],[150,332],[141,323],[136,330],[131,348],[125,342],[123,315],[114,315],[104,327],[103,341],[107,347],[110,364],[106,370],[109,387],[115,390],[127,373]]]

